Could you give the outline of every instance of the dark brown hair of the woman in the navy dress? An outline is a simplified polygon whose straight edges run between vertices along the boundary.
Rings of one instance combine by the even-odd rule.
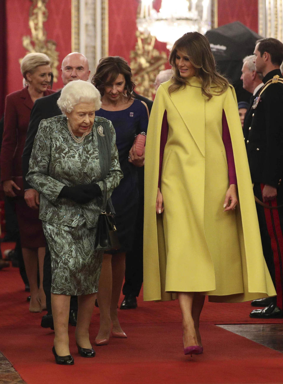
[[[99,60],[96,73],[91,79],[91,83],[99,90],[101,96],[104,95],[104,87],[111,85],[119,74],[124,75],[126,84],[124,92],[131,99],[135,83],[132,81],[132,71],[127,61],[120,56],[108,56]]]

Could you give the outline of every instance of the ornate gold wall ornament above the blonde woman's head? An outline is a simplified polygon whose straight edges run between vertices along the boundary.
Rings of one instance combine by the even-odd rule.
[[[56,42],[51,39],[47,39],[47,33],[43,26],[48,18],[48,10],[46,4],[48,0],[31,0],[29,21],[31,36],[23,36],[23,47],[31,52],[45,53],[51,60],[51,70],[54,75],[54,82],[58,79],[57,66],[59,64],[59,53],[56,51]],[[19,60],[20,62],[22,59]]]

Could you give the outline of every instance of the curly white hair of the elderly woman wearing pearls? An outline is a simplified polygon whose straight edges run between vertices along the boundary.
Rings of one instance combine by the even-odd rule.
[[[100,92],[88,81],[74,80],[66,84],[61,91],[61,96],[57,101],[58,107],[63,115],[71,113],[74,106],[79,103],[94,103],[95,110],[101,108]]]

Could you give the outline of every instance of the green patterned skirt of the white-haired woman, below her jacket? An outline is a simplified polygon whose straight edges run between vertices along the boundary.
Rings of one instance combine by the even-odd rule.
[[[84,217],[77,227],[42,222],[51,255],[51,292],[88,295],[98,291],[103,252],[94,250],[96,228],[87,228]]]

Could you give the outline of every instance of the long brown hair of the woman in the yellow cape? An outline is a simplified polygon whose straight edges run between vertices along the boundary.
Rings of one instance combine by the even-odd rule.
[[[215,68],[215,60],[210,49],[209,41],[199,32],[188,32],[175,41],[169,56],[169,63],[172,65],[174,75],[169,86],[169,94],[177,91],[181,87],[185,87],[189,83],[189,79],[180,76],[180,72],[176,65],[176,52],[182,51],[189,57],[190,62],[195,68],[195,76],[200,79],[202,84],[202,94],[209,100],[213,94],[220,95],[224,93],[229,83],[227,79],[221,76]],[[211,92],[211,86],[216,86]]]

